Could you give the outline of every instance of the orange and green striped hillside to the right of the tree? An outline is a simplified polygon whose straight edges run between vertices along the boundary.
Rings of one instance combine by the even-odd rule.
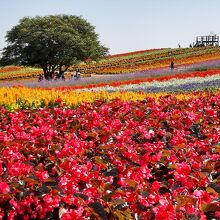
[[[85,74],[117,74],[168,67],[171,60],[177,67],[215,59],[220,59],[219,47],[167,48],[113,55],[99,62],[81,63],[74,68],[80,68]]]

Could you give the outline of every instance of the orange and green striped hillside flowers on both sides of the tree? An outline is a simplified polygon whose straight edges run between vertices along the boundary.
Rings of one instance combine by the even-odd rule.
[[[204,62],[212,61],[216,61],[219,66],[220,50],[219,47],[201,47],[135,51],[107,56],[98,62],[85,61],[70,67],[69,73],[80,69],[83,76],[138,72],[144,74],[146,71],[169,67],[171,60],[174,61],[176,68],[187,68],[198,64],[201,66]],[[39,68],[8,66],[0,68],[0,81],[15,81],[26,78],[37,81],[36,78],[42,73]],[[67,72],[66,75],[69,73]]]

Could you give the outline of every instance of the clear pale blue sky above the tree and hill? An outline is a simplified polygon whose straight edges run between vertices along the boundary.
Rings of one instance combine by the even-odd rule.
[[[0,0],[0,49],[24,16],[81,15],[111,54],[188,47],[197,35],[220,35],[220,0]]]

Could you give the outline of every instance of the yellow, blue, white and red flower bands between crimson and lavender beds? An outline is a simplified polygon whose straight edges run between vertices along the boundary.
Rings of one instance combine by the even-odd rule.
[[[175,97],[178,99],[188,99],[197,94],[205,96],[207,89],[219,91],[219,87],[220,71],[208,70],[170,74],[157,78],[53,88],[2,87],[0,88],[0,105],[9,111],[40,109],[54,107],[57,105],[57,100],[62,100],[66,106],[72,108],[84,102],[93,103],[96,100],[110,101],[119,98],[123,101],[137,101],[143,100],[146,95],[157,99],[172,92],[175,92]],[[194,90],[197,92],[192,92]]]

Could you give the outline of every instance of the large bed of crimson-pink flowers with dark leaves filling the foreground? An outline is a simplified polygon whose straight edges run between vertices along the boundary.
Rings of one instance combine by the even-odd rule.
[[[0,216],[217,219],[220,94],[0,108]]]

